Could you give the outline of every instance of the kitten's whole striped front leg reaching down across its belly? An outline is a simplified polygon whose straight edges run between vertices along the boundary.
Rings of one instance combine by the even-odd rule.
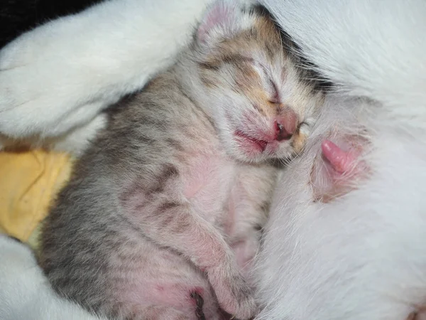
[[[173,184],[167,191],[147,194],[145,185],[135,183],[120,196],[126,219],[151,240],[181,252],[207,272],[219,305],[239,319],[249,319],[256,304],[234,253],[219,230],[192,210],[176,189],[180,190]]]

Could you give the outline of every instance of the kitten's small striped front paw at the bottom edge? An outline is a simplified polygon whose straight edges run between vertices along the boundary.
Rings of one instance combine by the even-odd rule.
[[[233,267],[214,267],[207,271],[219,305],[239,320],[251,319],[256,315],[257,306],[253,291],[244,277]]]

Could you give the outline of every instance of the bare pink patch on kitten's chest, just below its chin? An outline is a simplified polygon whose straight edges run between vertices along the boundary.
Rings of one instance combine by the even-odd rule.
[[[200,155],[192,158],[185,171],[184,196],[209,223],[224,223],[229,194],[236,181],[235,166],[223,156]]]

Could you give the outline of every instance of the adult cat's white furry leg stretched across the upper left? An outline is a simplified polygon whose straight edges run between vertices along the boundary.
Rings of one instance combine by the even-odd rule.
[[[58,137],[173,63],[209,0],[112,0],[0,51],[0,134]]]

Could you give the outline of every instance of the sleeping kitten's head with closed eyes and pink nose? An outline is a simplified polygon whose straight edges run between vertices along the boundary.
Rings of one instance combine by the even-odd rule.
[[[195,36],[202,105],[226,151],[241,161],[300,152],[322,105],[281,37],[263,9],[223,2],[207,11]]]

